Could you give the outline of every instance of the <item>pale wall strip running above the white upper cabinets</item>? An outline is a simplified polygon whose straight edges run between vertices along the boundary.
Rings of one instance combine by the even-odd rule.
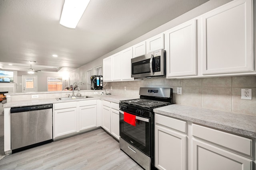
[[[102,65],[102,60],[110,55],[113,55],[119,51],[122,51],[128,47],[131,47],[137,43],[140,43],[141,41],[144,41],[150,37],[153,37],[154,35],[157,35],[159,33],[162,33],[172,27],[175,27],[176,25],[179,25],[185,21],[191,20],[197,16],[200,16],[210,10],[213,10],[215,8],[217,8],[218,6],[221,6],[223,4],[226,4],[228,2],[230,2],[232,0],[210,0],[204,4],[202,4],[201,6],[198,6],[197,8],[194,8],[193,10],[186,12],[185,14],[175,18],[174,20],[171,20],[163,25],[161,25],[160,27],[157,27],[156,29],[153,29],[152,31],[134,39],[133,41],[130,41],[129,43],[126,43],[125,45],[120,46],[119,48],[111,51],[110,53],[107,53],[103,56],[99,56],[98,59],[85,64],[84,66],[81,66],[80,68],[74,70],[73,72],[70,73],[70,82],[83,82],[85,83],[83,86],[81,86],[82,90],[87,90],[87,70],[89,70],[90,68],[95,68],[97,66]],[[160,18],[159,18],[160,19]],[[154,24],[154,23],[152,23]],[[100,50],[100,49],[99,49]],[[104,77],[103,77],[104,80]]]

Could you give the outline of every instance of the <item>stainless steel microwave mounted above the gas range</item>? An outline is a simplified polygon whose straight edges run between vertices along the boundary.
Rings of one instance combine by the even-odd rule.
[[[157,78],[166,76],[165,50],[158,50],[131,59],[134,78]]]

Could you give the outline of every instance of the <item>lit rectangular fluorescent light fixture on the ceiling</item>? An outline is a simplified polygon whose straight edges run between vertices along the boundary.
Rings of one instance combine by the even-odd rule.
[[[60,25],[76,28],[90,0],[65,0],[60,17]]]

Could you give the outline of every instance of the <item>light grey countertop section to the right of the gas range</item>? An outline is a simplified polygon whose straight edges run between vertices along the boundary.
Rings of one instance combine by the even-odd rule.
[[[256,138],[256,116],[200,107],[172,104],[154,109],[155,113],[200,125]]]

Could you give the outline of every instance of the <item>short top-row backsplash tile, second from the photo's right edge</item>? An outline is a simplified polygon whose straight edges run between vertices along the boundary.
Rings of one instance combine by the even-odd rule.
[[[232,77],[203,78],[203,87],[232,87]]]

